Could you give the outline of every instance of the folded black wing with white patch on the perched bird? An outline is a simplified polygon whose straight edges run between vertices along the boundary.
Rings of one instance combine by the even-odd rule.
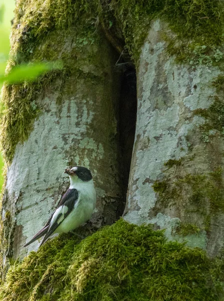
[[[41,243],[45,241],[54,233],[58,226],[64,221],[64,219],[70,214],[74,209],[75,204],[78,202],[79,193],[76,189],[68,189],[67,192],[62,197],[58,208],[55,210],[50,225],[48,226],[48,231]],[[41,246],[40,245],[40,246]]]

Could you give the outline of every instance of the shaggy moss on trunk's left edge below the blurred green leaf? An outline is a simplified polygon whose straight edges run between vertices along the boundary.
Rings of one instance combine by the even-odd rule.
[[[34,120],[41,112],[37,99],[44,89],[67,70],[53,70],[33,82],[5,84],[2,90],[1,143],[7,162],[12,162],[17,143],[25,141],[33,129]]]

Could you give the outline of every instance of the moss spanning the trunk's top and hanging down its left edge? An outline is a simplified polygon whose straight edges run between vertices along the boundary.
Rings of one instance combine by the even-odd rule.
[[[60,59],[64,69],[57,73],[57,78],[63,80],[80,69],[84,61],[94,60],[90,54],[85,56],[85,52],[89,45],[100,45],[98,24],[107,31],[107,37],[112,32],[118,39],[123,39],[137,66],[151,20],[156,18],[166,21],[176,34],[176,38],[169,41],[167,50],[170,54],[191,65],[210,65],[223,57],[220,50],[223,12],[224,4],[220,0],[179,0],[178,3],[176,0],[113,0],[108,3],[99,0],[56,0],[53,3],[20,0],[15,10],[8,71],[22,63]],[[62,45],[69,30],[76,32],[73,54],[67,53]],[[2,141],[7,161],[12,161],[15,145],[27,139],[40,113],[34,103],[36,92],[43,91],[43,85],[51,85],[54,75],[55,71],[50,71],[44,81],[8,86],[4,91],[7,109],[3,117],[6,126],[2,126]]]

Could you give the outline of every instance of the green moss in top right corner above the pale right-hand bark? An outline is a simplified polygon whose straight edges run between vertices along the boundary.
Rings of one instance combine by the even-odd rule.
[[[223,59],[220,48],[223,39],[223,8],[223,3],[218,0],[180,0],[175,3],[168,0],[164,19],[177,34],[176,38],[168,41],[169,54],[175,54],[178,62],[192,67],[220,62]]]

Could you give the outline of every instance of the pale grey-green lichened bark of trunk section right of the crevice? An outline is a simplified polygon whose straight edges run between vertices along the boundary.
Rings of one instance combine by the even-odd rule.
[[[220,69],[167,56],[153,22],[137,72],[137,124],[125,220],[154,224],[170,240],[216,255],[223,247],[223,98],[212,85]],[[220,96],[220,97],[219,97]]]

